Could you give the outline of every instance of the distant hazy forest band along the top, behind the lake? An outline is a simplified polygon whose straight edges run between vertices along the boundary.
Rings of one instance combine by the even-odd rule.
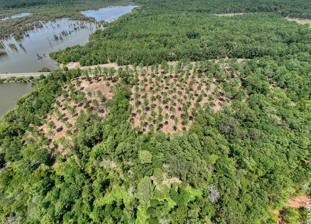
[[[0,19],[12,16],[16,13],[30,12],[29,16],[0,20],[0,39],[13,35],[15,39],[23,38],[27,30],[42,27],[40,21],[55,21],[59,18],[69,18],[72,20],[94,21],[94,18],[86,17],[79,11],[88,9],[98,9],[110,5],[137,4],[144,6],[145,15],[150,15],[162,9],[176,13],[255,13],[255,12],[274,12],[281,16],[291,18],[311,19],[311,2],[308,0],[260,0],[260,1],[144,1],[144,0],[2,0],[0,4]],[[150,8],[152,7],[152,9]],[[158,11],[163,12],[163,11]],[[177,27],[175,27],[177,28]]]

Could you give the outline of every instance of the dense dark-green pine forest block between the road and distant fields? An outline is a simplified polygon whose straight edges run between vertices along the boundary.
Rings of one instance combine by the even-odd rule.
[[[116,62],[144,65],[189,58],[192,61],[271,56],[275,59],[309,51],[308,25],[297,26],[275,13],[233,17],[204,12],[202,1],[165,1],[122,16],[109,29],[97,30],[85,46],[73,46],[50,56],[81,66]],[[171,9],[174,10],[171,10]],[[200,8],[202,12],[195,12]],[[235,11],[233,11],[235,12]]]

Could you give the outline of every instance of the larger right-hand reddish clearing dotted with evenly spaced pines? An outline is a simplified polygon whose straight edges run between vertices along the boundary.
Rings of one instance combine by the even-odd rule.
[[[227,70],[225,72],[228,73]],[[237,75],[234,73],[233,77]],[[224,96],[222,87],[216,88],[215,78],[208,80],[206,74],[193,77],[193,70],[188,75],[187,72],[183,75],[170,73],[140,74],[138,79],[138,85],[132,84],[130,104],[134,110],[130,120],[134,121],[133,126],[140,126],[143,132],[147,132],[151,125],[169,133],[176,130],[187,130],[197,116],[198,110],[209,105],[215,111],[220,111],[224,103],[230,103],[230,99]],[[156,81],[157,79],[158,81]],[[157,84],[155,85],[155,83]],[[137,86],[138,91],[135,90]],[[135,96],[137,94],[139,94],[138,98]],[[139,102],[138,106],[137,101]],[[154,104],[153,109],[152,104]],[[183,106],[185,104],[189,104],[188,124],[185,124],[183,119],[185,116]],[[169,115],[168,119],[165,119],[166,114]],[[163,116],[163,122],[157,124],[156,120],[160,115]],[[148,121],[150,118],[152,119]],[[176,118],[178,122],[175,125]]]

